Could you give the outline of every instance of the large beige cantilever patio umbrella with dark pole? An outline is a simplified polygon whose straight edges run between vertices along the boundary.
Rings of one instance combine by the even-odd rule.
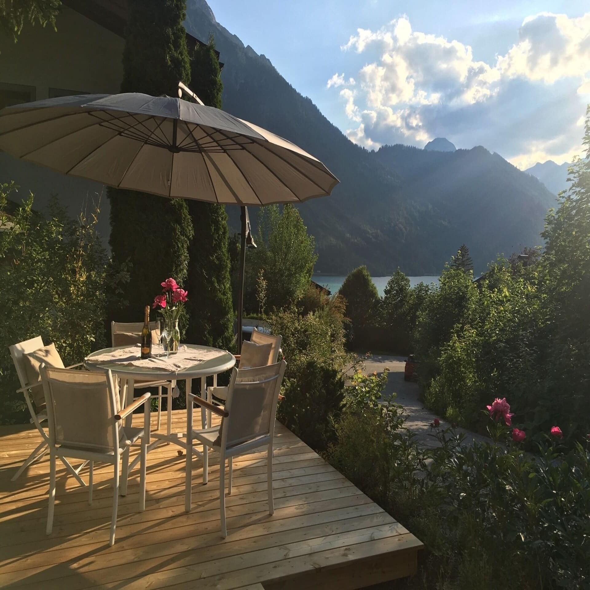
[[[194,96],[183,84],[179,88]],[[327,196],[339,182],[312,155],[252,123],[181,98],[138,93],[66,96],[6,107],[0,111],[0,149],[116,188],[240,205],[238,352],[246,206]]]

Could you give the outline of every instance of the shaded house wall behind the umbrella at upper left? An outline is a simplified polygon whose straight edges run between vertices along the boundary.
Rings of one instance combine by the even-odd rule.
[[[27,23],[17,43],[0,32],[0,97],[2,89],[18,91],[18,96],[32,89],[29,100],[118,93],[123,79],[123,47],[122,38],[65,6],[57,18],[57,32],[50,26]],[[52,195],[59,197],[72,217],[81,209],[93,210],[93,204],[100,201],[98,229],[107,245],[109,202],[104,186],[0,153],[0,183],[11,180],[20,186],[18,195],[11,198],[19,201],[32,191],[38,211],[46,210]]]

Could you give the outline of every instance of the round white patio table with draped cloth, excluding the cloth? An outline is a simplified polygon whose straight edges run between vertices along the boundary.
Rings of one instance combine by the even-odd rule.
[[[215,356],[215,358],[212,359],[196,362],[194,365],[188,366],[183,369],[179,369],[178,371],[169,371],[168,369],[160,367],[137,367],[123,362],[117,362],[116,360],[111,360],[107,362],[101,362],[99,360],[93,361],[93,358],[106,354],[112,355],[115,354],[117,350],[129,349],[129,346],[115,346],[114,348],[103,348],[102,350],[97,350],[96,352],[91,353],[84,359],[84,366],[89,371],[106,371],[106,369],[110,369],[113,375],[116,375],[121,380],[122,391],[120,392],[120,402],[122,407],[133,402],[133,390],[135,381],[172,382],[172,388],[168,389],[168,424],[166,427],[166,434],[160,432],[151,432],[148,435],[148,452],[163,441],[172,442],[173,444],[176,444],[179,447],[182,447],[186,450],[186,442],[182,440],[183,438],[186,439],[186,432],[172,432],[171,391],[176,386],[176,381],[181,381],[182,379],[184,379],[186,381],[186,393],[190,394],[192,392],[192,379],[201,378],[201,391],[199,392],[199,394],[201,398],[207,399],[207,377],[209,375],[213,376],[213,386],[215,387],[217,385],[217,375],[219,373],[227,371],[228,369],[231,369],[235,365],[235,356],[227,350],[212,348],[211,346],[199,346],[196,344],[182,344],[182,346],[186,346],[186,348],[192,350],[207,351],[208,353],[218,352],[219,355]],[[152,354],[152,356],[157,357],[160,355]],[[171,355],[171,359],[173,358],[173,356],[174,355]],[[201,417],[203,428],[206,428],[207,425],[211,425],[210,410],[205,411],[204,408],[201,408]],[[131,414],[125,418],[126,427],[131,426],[132,419],[133,417]],[[150,442],[150,437],[153,437],[156,440],[154,442]],[[201,452],[196,450],[195,447],[193,447],[193,452],[199,457],[202,456]],[[132,464],[129,466],[129,470],[132,470],[132,468],[135,467],[138,461],[139,455],[135,458],[135,460],[133,460]]]

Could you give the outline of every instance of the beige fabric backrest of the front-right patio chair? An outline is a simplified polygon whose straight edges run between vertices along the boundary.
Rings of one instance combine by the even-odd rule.
[[[232,371],[225,402],[229,415],[222,419],[222,448],[268,435],[272,437],[286,366],[282,360],[265,367]]]

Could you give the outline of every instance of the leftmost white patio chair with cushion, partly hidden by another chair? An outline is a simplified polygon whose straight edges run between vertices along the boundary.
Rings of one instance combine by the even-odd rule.
[[[45,411],[45,396],[43,395],[43,386],[41,385],[41,374],[38,369],[35,368],[35,366],[32,366],[33,364],[40,365],[40,362],[27,363],[24,359],[24,355],[34,353],[38,350],[40,352],[40,359],[43,359],[47,364],[55,363],[55,365],[63,368],[64,363],[61,361],[57,350],[52,351],[50,350],[50,347],[46,348],[43,345],[41,336],[35,336],[30,340],[25,340],[24,342],[19,342],[18,344],[9,346],[9,350],[10,355],[12,356],[12,362],[14,362],[14,368],[17,369],[18,381],[21,383],[21,387],[17,389],[17,392],[22,393],[22,395],[25,396],[25,402],[27,402],[27,408],[31,414],[31,423],[37,427],[37,430],[40,432],[41,437],[43,438],[38,447],[32,451],[27,460],[21,465],[17,473],[12,476],[11,481],[15,481],[21,476],[22,472],[27,467],[29,467],[32,463],[35,463],[35,461],[40,461],[45,456],[49,443],[49,437],[47,434],[45,434],[45,431],[41,425],[42,422],[47,420],[47,412]],[[48,355],[54,357],[57,355],[57,358],[50,360]],[[77,363],[76,365],[71,365],[68,367],[68,369],[73,369],[74,367],[81,366],[82,364],[83,363]],[[86,483],[84,483],[84,480],[80,477],[80,471],[86,465],[86,463],[83,463],[80,465],[80,467],[74,469],[74,467],[72,467],[65,459],[62,459],[61,461],[67,470],[70,471],[70,473],[76,478],[80,486],[85,487]]]

